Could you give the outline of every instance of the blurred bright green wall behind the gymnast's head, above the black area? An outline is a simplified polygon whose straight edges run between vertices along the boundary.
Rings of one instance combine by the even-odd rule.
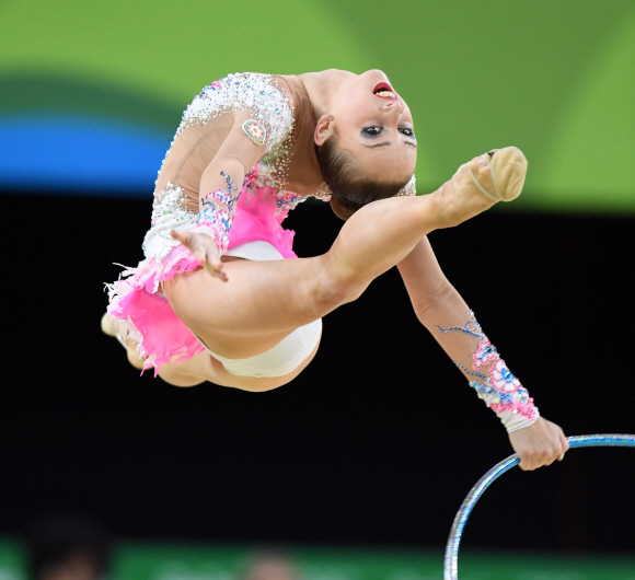
[[[516,144],[517,208],[635,211],[633,0],[4,0],[0,22],[0,125],[90,117],[166,148],[228,72],[381,68],[413,111],[419,192]]]

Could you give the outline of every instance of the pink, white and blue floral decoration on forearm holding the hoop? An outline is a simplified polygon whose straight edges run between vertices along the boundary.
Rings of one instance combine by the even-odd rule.
[[[471,368],[458,361],[454,364],[469,376],[470,386],[498,415],[509,432],[528,427],[540,416],[533,398],[507,368],[496,347],[481,329],[474,313],[470,311],[470,314],[472,320],[465,326],[437,326],[440,333],[464,335],[470,344]]]

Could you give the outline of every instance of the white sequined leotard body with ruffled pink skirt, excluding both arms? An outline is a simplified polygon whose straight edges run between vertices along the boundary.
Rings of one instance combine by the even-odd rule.
[[[151,228],[143,241],[143,259],[109,285],[108,312],[126,322],[139,353],[155,373],[174,356],[181,360],[204,350],[160,293],[161,282],[198,267],[190,252],[170,236],[171,230],[196,229],[200,176],[229,134],[234,114],[249,109],[266,129],[265,152],[246,174],[232,199],[216,208],[215,225],[221,251],[252,241],[272,244],[285,258],[296,257],[293,232],[281,222],[308,197],[330,198],[326,188],[300,196],[286,188],[296,132],[295,104],[281,79],[257,73],[230,74],[195,96],[187,106],[159,171]],[[414,193],[414,192],[413,192]],[[205,216],[206,219],[209,216]]]

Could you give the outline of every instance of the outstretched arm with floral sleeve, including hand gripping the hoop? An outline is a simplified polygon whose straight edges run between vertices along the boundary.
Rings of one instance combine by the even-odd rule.
[[[523,469],[562,459],[562,429],[541,418],[527,390],[511,374],[474,314],[443,276],[427,237],[399,265],[419,322],[430,332],[488,407],[496,411]]]

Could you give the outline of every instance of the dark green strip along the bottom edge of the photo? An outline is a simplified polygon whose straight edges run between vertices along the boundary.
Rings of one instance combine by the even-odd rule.
[[[252,552],[246,546],[120,545],[113,580],[235,580]],[[303,580],[440,580],[441,550],[296,548],[287,553]],[[0,541],[0,578],[24,580],[20,545]],[[635,561],[619,556],[557,557],[541,554],[467,553],[461,580],[634,580]]]

